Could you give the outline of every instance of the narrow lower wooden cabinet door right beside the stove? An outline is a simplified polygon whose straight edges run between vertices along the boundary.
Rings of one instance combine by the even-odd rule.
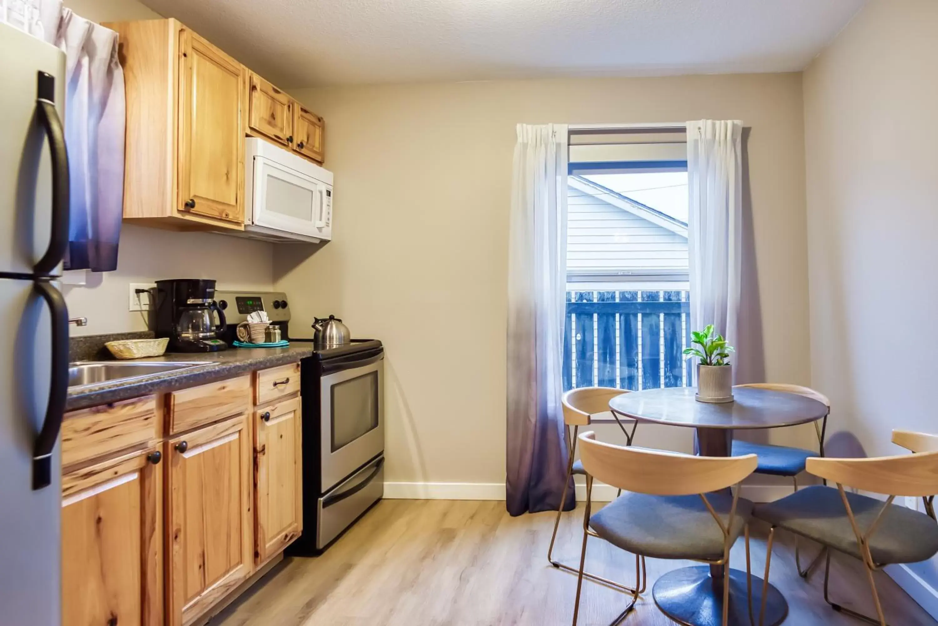
[[[302,430],[299,398],[254,412],[254,555],[258,564],[303,529]]]

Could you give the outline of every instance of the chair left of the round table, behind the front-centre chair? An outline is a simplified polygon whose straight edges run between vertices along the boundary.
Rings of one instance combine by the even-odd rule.
[[[578,570],[575,567],[571,567],[566,563],[562,563],[559,560],[555,560],[553,558],[553,543],[557,539],[557,528],[560,527],[560,515],[564,511],[564,502],[567,500],[567,485],[569,485],[571,477],[586,475],[586,472],[583,470],[582,463],[580,461],[573,460],[577,450],[577,434],[581,426],[588,426],[592,423],[610,423],[611,420],[594,420],[593,416],[600,413],[609,413],[609,401],[612,400],[615,396],[622,395],[623,393],[628,393],[628,389],[613,389],[612,387],[583,387],[581,389],[570,389],[561,398],[561,404],[564,407],[564,426],[567,429],[567,451],[569,452],[569,462],[567,463],[567,481],[564,482],[563,495],[560,496],[560,506],[557,508],[557,518],[553,521],[551,544],[547,548],[547,560],[551,562],[553,567],[559,570],[565,570],[570,573],[578,573]],[[615,413],[613,413],[613,419],[619,425],[619,428],[622,429],[622,432],[626,435],[626,441],[628,442],[628,445],[632,445],[632,439],[635,436],[635,429],[638,426],[638,421],[621,418]],[[631,422],[631,429],[626,428],[626,424],[628,422]],[[572,434],[570,432],[571,428],[573,429]],[[647,576],[644,575],[644,559],[642,559],[642,572],[643,577],[641,587],[638,588],[639,593],[644,593],[645,583],[647,582]],[[628,587],[627,585],[617,583],[613,580],[603,578],[602,576],[598,576],[593,573],[584,572],[583,575],[598,583],[619,589],[620,591],[625,591],[626,593],[632,593],[635,591],[635,588]]]

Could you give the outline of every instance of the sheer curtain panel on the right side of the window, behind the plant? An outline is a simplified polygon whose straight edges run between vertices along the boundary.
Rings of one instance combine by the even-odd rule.
[[[742,134],[738,120],[688,122],[690,326],[713,324],[731,345],[742,274]]]

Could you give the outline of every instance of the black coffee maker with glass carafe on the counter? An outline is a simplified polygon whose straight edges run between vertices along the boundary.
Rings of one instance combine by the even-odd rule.
[[[225,313],[215,302],[215,281],[198,278],[157,281],[157,337],[169,337],[170,352],[225,350],[219,334],[225,331]],[[215,316],[219,314],[219,324]]]

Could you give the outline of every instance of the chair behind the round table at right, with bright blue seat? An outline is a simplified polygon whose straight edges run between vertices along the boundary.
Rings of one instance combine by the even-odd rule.
[[[800,385],[788,385],[784,383],[749,383],[747,385],[736,385],[736,387],[751,387],[755,389],[769,389],[772,391],[782,391],[785,393],[796,393],[806,398],[811,398],[823,403],[830,409],[830,401],[823,393],[819,393],[808,387]],[[771,476],[785,476],[792,479],[794,491],[798,490],[798,474],[805,471],[808,459],[812,456],[824,456],[824,441],[827,431],[827,416],[824,420],[814,422],[814,431],[818,436],[818,451],[804,450],[801,448],[790,448],[788,446],[773,446],[769,444],[752,443],[739,439],[733,440],[734,456],[744,454],[755,454],[759,457],[759,466],[756,468],[756,474],[768,474]],[[798,568],[798,574],[802,578],[807,578],[814,566],[821,562],[821,557],[825,554],[822,549],[817,557],[814,557],[808,567],[801,568],[801,545],[800,542],[794,542],[794,565]]]

